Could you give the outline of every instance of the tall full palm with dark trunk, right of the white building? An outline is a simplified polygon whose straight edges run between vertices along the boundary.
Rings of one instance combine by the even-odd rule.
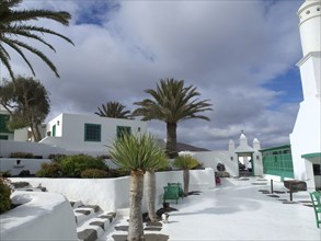
[[[192,84],[184,87],[184,80],[161,79],[157,90],[145,90],[152,99],[145,99],[134,104],[140,105],[133,115],[144,116],[142,120],[159,119],[167,123],[167,153],[170,158],[177,157],[176,128],[177,123],[190,118],[209,120],[200,112],[211,111],[208,100],[198,101],[200,95]]]

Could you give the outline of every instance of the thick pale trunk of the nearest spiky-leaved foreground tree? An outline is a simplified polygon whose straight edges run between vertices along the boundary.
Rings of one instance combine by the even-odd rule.
[[[128,241],[144,240],[141,199],[144,192],[144,172],[131,171],[129,187],[129,229]]]

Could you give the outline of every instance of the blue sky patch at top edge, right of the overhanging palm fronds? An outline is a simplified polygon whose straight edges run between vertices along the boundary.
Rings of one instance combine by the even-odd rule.
[[[76,24],[95,24],[102,26],[106,23],[113,13],[121,8],[118,1],[113,0],[90,0],[79,1],[80,8]]]

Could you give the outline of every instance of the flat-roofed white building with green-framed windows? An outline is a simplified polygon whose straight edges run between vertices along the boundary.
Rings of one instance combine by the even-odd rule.
[[[147,131],[147,123],[135,119],[107,118],[98,115],[62,113],[47,124],[47,136],[41,144],[87,153],[106,152],[124,131]]]

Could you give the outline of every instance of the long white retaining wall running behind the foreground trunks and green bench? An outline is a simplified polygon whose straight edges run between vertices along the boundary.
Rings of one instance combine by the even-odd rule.
[[[116,211],[129,207],[129,176],[117,179],[23,179],[12,177],[12,182],[28,182],[33,186],[45,186],[49,192],[65,195],[69,200],[81,200],[88,205],[99,205],[105,211]],[[157,172],[157,196],[161,205],[163,186],[169,182],[183,184],[182,171]],[[214,170],[192,170],[190,190],[215,187]],[[147,211],[146,197],[142,211]]]

